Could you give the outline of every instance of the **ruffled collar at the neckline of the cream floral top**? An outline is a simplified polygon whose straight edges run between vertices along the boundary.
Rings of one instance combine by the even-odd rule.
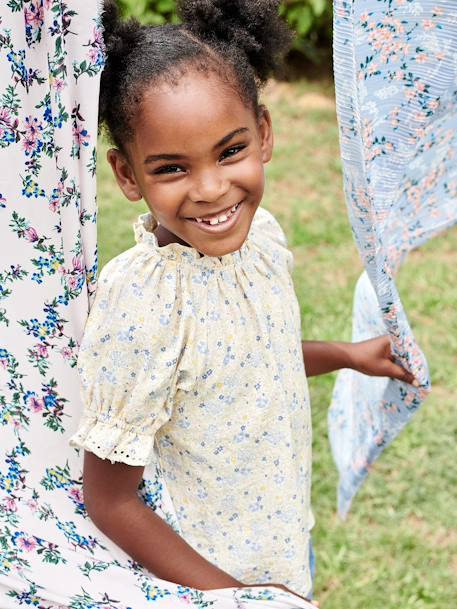
[[[217,268],[240,264],[249,253],[249,237],[236,252],[224,256],[202,256],[195,248],[180,243],[170,243],[161,247],[154,234],[157,222],[151,213],[141,215],[134,224],[135,240],[138,245],[153,249],[161,258],[176,263],[187,263],[205,268]],[[252,231],[252,227],[251,227]]]

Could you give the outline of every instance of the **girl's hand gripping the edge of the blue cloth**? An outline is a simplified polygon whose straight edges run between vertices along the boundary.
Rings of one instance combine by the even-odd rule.
[[[379,336],[349,346],[350,367],[369,376],[387,376],[415,387],[419,383],[411,374],[395,363],[388,336]]]

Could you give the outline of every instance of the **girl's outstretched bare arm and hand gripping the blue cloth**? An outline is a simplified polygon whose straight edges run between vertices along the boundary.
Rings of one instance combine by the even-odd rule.
[[[370,376],[386,376],[417,386],[414,376],[394,362],[388,336],[360,343],[303,341],[302,348],[308,376],[352,368]]]

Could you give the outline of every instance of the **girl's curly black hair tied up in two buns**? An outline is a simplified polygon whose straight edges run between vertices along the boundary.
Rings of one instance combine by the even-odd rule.
[[[107,59],[100,118],[120,149],[133,137],[133,119],[153,83],[176,83],[189,69],[214,71],[259,112],[259,89],[278,67],[291,33],[280,0],[178,0],[180,25],[123,21],[115,0],[103,13]]]

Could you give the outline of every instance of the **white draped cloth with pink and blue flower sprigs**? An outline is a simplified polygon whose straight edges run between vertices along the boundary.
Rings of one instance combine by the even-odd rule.
[[[69,438],[97,273],[99,10],[95,0],[0,8],[0,608],[309,608],[273,588],[161,581],[87,516]],[[175,522],[154,469],[140,494]]]

